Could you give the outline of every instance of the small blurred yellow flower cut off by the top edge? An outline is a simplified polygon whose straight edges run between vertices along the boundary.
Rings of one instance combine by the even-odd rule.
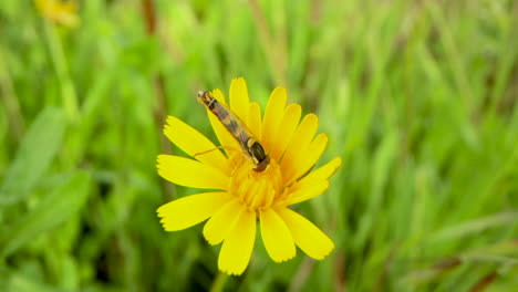
[[[34,0],[34,3],[40,14],[51,22],[69,28],[74,28],[80,22],[75,1]]]

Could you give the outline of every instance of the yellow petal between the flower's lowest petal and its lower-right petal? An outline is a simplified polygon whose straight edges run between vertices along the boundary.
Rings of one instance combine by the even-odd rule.
[[[260,212],[261,237],[265,248],[274,262],[283,262],[296,255],[296,246],[284,221],[273,209]]]

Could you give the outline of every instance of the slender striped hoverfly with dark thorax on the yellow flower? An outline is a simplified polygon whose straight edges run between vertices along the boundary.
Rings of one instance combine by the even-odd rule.
[[[265,148],[262,148],[245,123],[229,108],[216,101],[208,91],[198,92],[198,101],[205,104],[237,139],[246,156],[255,164],[252,169],[257,173],[263,171],[270,163],[270,157],[265,153]]]

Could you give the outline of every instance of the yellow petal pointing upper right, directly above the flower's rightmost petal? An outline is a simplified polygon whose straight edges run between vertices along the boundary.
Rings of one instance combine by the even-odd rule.
[[[309,147],[300,153],[301,159],[293,160],[292,166],[287,170],[284,180],[286,185],[291,185],[292,180],[299,179],[307,174],[311,167],[320,159],[325,147],[328,146],[328,135],[321,133],[311,142]]]

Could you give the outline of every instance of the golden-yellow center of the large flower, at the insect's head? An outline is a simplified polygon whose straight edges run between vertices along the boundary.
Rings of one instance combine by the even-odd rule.
[[[268,167],[258,173],[252,169],[253,164],[249,159],[240,156],[230,179],[230,194],[238,197],[249,211],[270,208],[284,190],[279,165],[270,159]]]

